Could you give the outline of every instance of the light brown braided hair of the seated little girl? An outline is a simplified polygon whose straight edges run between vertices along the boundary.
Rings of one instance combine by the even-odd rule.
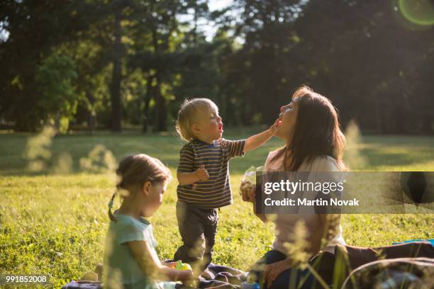
[[[120,181],[116,184],[116,191],[109,203],[109,218],[114,222],[116,217],[111,213],[111,208],[118,190],[126,190],[131,196],[147,181],[154,185],[172,179],[169,168],[160,162],[160,159],[150,157],[148,154],[131,154],[124,158],[116,169],[116,174],[120,177]]]

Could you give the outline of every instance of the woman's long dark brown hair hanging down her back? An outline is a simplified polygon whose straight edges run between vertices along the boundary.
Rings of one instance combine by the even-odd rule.
[[[338,113],[330,100],[308,86],[301,86],[293,94],[292,101],[298,106],[294,134],[270,161],[274,162],[284,154],[284,170],[297,171],[303,162],[327,155],[344,169],[345,136],[340,131]]]

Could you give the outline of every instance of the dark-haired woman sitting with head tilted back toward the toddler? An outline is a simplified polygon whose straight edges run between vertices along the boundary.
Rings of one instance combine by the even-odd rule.
[[[339,128],[338,114],[328,98],[307,86],[297,89],[291,103],[280,108],[274,135],[282,138],[286,145],[269,153],[265,171],[308,171],[310,180],[318,181],[312,172],[344,169],[342,154],[345,136]],[[248,201],[255,202],[255,191],[250,193]],[[327,251],[330,256],[336,244],[345,244],[340,215],[315,212],[310,215],[256,215],[264,222],[274,222],[276,226],[273,249],[258,262],[266,264],[262,280],[267,288],[290,288],[309,275],[307,270],[291,270],[297,261],[289,252],[294,250],[289,248],[294,243],[294,228],[300,227],[300,221],[306,229],[303,250],[307,256],[315,256],[309,263],[318,259],[321,255],[318,253]],[[333,224],[330,220],[334,220]],[[310,288],[312,282],[313,278],[307,278],[304,283],[306,288]]]

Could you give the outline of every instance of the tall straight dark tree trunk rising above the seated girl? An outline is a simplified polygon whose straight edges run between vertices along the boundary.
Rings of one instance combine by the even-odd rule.
[[[120,8],[115,13],[115,42],[113,46],[113,75],[111,78],[111,130],[113,132],[121,131],[121,60],[122,60],[122,45],[121,45],[121,10]]]

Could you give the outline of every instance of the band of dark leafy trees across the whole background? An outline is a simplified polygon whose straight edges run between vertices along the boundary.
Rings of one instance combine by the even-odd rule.
[[[307,84],[344,125],[433,133],[434,26],[404,2],[4,0],[0,121],[164,131],[184,98],[207,97],[228,125],[269,124]]]

